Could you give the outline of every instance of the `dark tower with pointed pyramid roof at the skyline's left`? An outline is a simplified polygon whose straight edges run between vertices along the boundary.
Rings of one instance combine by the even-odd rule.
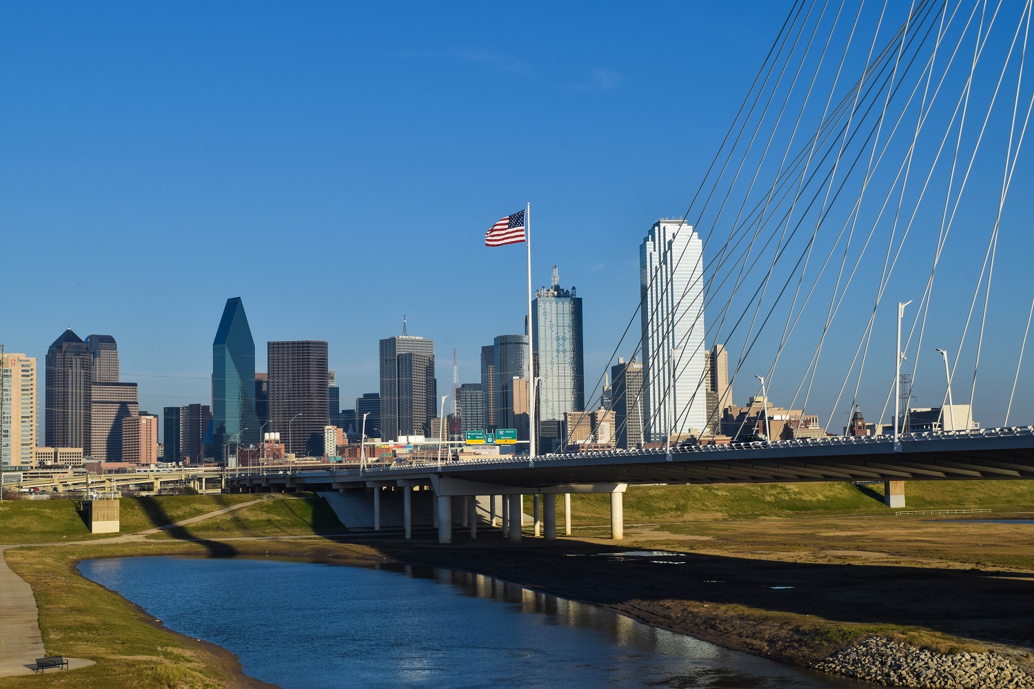
[[[66,330],[47,350],[47,446],[89,449],[92,381],[93,354],[71,328]]]

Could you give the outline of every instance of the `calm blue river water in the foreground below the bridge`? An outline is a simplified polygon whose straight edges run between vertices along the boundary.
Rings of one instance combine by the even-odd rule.
[[[285,689],[873,686],[450,569],[162,557],[80,570]]]

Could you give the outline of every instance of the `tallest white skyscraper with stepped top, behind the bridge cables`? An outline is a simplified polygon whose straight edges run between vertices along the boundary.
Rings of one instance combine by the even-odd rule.
[[[639,247],[643,421],[653,442],[707,422],[702,252],[681,220],[655,223]]]

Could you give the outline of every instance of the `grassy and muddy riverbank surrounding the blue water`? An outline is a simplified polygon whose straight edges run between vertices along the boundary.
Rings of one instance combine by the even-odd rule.
[[[578,537],[521,543],[483,529],[476,540],[457,530],[453,544],[438,545],[430,531],[413,541],[398,534],[333,535],[343,528],[317,519],[318,503],[311,497],[250,506],[235,501],[232,512],[149,538],[56,542],[6,556],[33,588],[48,653],[98,660],[67,674],[78,687],[117,686],[126,678],[134,686],[260,686],[231,654],[162,628],[74,568],[83,559],[178,554],[449,567],[607,605],[653,626],[795,665],[813,665],[875,636],[937,654],[994,651],[1032,669],[1030,525],[875,515],[726,518],[629,524],[620,543],[594,538],[594,528],[576,529],[583,534]],[[185,515],[193,508],[166,511]],[[313,534],[317,529],[322,536]],[[663,552],[641,556],[652,551]],[[113,638],[125,640],[113,645]],[[57,677],[49,675],[48,685],[66,681]],[[0,679],[6,686],[16,685]]]

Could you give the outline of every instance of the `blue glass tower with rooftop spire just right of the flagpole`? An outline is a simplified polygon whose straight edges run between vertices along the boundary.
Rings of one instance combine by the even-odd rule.
[[[535,375],[541,378],[536,398],[538,418],[561,420],[569,411],[583,411],[585,356],[581,297],[574,287],[560,287],[555,265],[549,289],[537,290],[531,302],[531,342]]]

